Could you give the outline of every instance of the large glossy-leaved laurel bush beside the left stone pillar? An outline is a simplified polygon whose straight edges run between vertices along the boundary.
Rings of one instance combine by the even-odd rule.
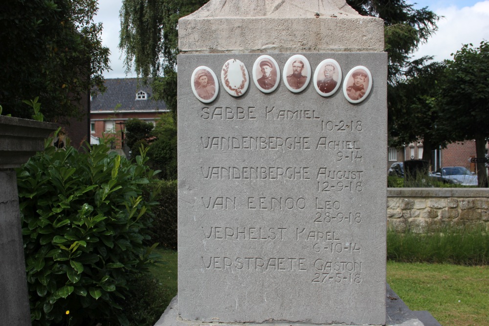
[[[17,171],[33,325],[128,325],[120,304],[157,260],[142,190],[156,173],[144,150],[108,151],[50,146]]]

